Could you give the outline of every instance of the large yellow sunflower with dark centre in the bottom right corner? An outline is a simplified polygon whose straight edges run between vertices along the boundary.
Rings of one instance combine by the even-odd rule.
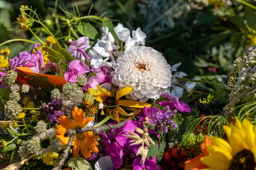
[[[256,170],[256,127],[236,118],[235,125],[223,128],[229,142],[211,137],[212,145],[206,145],[209,156],[201,158],[208,166],[204,170]]]

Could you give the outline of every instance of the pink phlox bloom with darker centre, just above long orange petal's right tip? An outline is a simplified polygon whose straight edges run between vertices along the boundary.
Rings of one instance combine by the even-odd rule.
[[[81,60],[74,59],[70,62],[64,77],[67,82],[76,82],[78,75],[88,72],[89,67],[87,65],[85,65]]]

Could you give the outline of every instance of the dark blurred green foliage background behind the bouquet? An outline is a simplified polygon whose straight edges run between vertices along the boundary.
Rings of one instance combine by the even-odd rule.
[[[120,22],[130,30],[140,27],[147,35],[145,45],[163,53],[170,65],[182,62],[178,71],[188,74],[188,78],[197,75],[202,80],[222,84],[227,82],[234,59],[247,55],[256,45],[255,10],[235,0],[0,0],[0,42],[14,38],[35,40],[15,23],[20,5],[36,8],[58,38],[68,32],[61,25],[58,29],[55,14],[77,11],[77,6],[80,16],[86,16],[93,5],[90,15],[108,16],[116,20],[114,26]],[[33,26],[32,30],[47,37],[41,28]],[[11,49],[11,57],[31,48],[31,44],[23,42],[12,42],[2,48],[6,46]],[[228,92],[222,88],[200,83],[191,93],[184,93],[183,99],[200,108],[195,101],[209,92],[215,96],[212,105],[219,104],[213,111],[221,112],[228,99]]]

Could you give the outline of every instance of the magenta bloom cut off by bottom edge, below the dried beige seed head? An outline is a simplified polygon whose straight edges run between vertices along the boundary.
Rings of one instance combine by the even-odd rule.
[[[146,159],[144,164],[140,164],[141,157],[137,157],[134,160],[133,168],[134,170],[157,170],[157,165],[154,161]]]

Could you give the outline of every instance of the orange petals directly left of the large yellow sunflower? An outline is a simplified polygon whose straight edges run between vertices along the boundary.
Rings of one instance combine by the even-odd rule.
[[[207,165],[203,164],[200,161],[200,159],[202,157],[209,155],[209,153],[207,152],[207,150],[205,148],[205,145],[212,145],[212,142],[210,141],[210,139],[207,135],[205,135],[205,137],[204,137],[204,143],[200,144],[200,149],[202,151],[202,154],[196,156],[195,158],[193,158],[189,161],[186,161],[184,170],[201,170],[201,169],[208,167]]]

